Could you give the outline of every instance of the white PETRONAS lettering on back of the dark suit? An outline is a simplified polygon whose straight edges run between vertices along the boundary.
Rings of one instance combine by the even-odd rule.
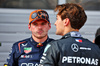
[[[63,56],[62,63],[87,64],[98,66],[99,59],[89,57]]]

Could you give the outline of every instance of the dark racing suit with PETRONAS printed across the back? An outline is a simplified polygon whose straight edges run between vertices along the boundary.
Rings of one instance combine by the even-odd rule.
[[[47,44],[40,66],[100,66],[100,49],[79,32],[70,32]]]

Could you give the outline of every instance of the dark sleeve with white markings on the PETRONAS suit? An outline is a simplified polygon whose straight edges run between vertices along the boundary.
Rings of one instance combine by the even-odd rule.
[[[57,66],[57,57],[58,57],[58,50],[55,44],[47,44],[45,47],[43,56],[40,59],[39,66]]]

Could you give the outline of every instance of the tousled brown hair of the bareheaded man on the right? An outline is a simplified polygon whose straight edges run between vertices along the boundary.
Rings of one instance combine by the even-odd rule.
[[[66,3],[57,5],[54,11],[58,11],[57,15],[60,15],[62,20],[69,18],[71,27],[74,29],[80,29],[87,20],[87,15],[79,4]]]

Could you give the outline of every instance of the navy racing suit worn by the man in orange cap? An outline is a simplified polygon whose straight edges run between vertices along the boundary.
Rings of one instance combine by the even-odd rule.
[[[8,66],[38,66],[46,44],[52,40],[48,37],[40,47],[32,37],[14,43],[7,59]]]

